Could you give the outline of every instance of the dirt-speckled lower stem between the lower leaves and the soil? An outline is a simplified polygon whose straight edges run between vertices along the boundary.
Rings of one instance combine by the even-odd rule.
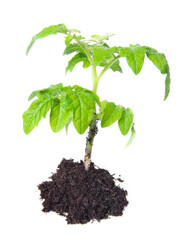
[[[96,119],[96,115],[94,115],[89,125],[89,132],[88,132],[87,141],[86,141],[85,158],[84,158],[84,166],[86,171],[89,170],[89,167],[91,164],[91,153],[92,153],[93,141],[94,141],[95,135],[97,134],[97,131],[98,131],[97,119]]]

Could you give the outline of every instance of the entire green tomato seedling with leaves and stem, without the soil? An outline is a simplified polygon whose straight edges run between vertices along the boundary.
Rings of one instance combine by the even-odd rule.
[[[139,44],[130,44],[128,47],[110,47],[107,40],[112,34],[104,36],[92,35],[90,39],[85,39],[80,35],[80,31],[68,29],[64,24],[49,26],[36,34],[32,38],[26,53],[29,53],[36,40],[57,33],[65,35],[66,47],[63,55],[74,53],[74,56],[68,62],[66,72],[71,72],[76,64],[80,62],[83,63],[83,68],[91,67],[92,90],[78,85],[63,86],[62,83],[59,83],[32,92],[28,100],[35,97],[37,99],[32,102],[23,114],[23,129],[26,134],[29,134],[38,125],[39,121],[46,117],[48,111],[50,111],[50,126],[55,133],[64,127],[67,131],[71,121],[73,121],[73,125],[79,134],[83,134],[89,127],[84,157],[85,169],[88,170],[98,120],[101,121],[102,128],[109,127],[117,121],[123,135],[127,135],[131,131],[128,145],[135,136],[132,110],[114,102],[99,100],[97,95],[98,83],[105,72],[110,69],[113,72],[122,73],[119,59],[125,58],[129,67],[137,75],[142,69],[146,55],[160,72],[166,75],[164,95],[164,100],[166,100],[171,82],[169,65],[165,55],[154,48]],[[97,74],[97,67],[102,69],[99,74]]]

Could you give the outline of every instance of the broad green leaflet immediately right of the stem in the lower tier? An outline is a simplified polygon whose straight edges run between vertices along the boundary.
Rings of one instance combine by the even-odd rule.
[[[114,122],[120,119],[122,115],[123,107],[120,105],[115,105],[113,102],[106,103],[104,108],[103,117],[101,120],[101,127],[109,127]]]

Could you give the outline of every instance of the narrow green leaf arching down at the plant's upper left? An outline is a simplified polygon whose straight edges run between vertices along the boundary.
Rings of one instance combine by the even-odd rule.
[[[33,46],[33,44],[35,43],[35,41],[37,39],[44,38],[51,34],[57,34],[57,33],[68,34],[70,31],[71,30],[68,30],[64,24],[52,25],[47,28],[44,28],[41,32],[39,32],[38,34],[33,36],[32,40],[27,48],[26,54],[28,55],[31,47]]]

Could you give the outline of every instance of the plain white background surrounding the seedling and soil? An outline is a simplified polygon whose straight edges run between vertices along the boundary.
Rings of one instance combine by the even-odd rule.
[[[189,239],[189,77],[188,7],[180,1],[3,1],[1,22],[1,239]],[[164,79],[145,59],[135,76],[121,60],[124,74],[109,71],[99,84],[101,100],[129,106],[137,131],[133,144],[117,124],[100,129],[93,161],[112,174],[121,174],[129,206],[122,217],[101,223],[70,226],[55,213],[41,212],[37,185],[48,179],[63,157],[83,158],[86,135],[73,126],[54,134],[48,118],[26,136],[22,113],[28,95],[63,82],[91,88],[90,69],[81,65],[65,76],[64,37],[36,42],[42,28],[65,23],[83,35],[115,33],[110,45],[139,43],[164,52],[171,69],[171,92],[164,97]]]

